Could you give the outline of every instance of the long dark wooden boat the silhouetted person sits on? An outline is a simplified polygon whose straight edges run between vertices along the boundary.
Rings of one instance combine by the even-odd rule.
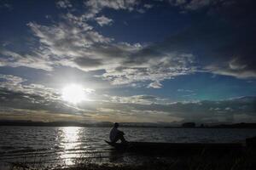
[[[143,152],[143,153],[166,153],[166,154],[192,154],[202,151],[213,153],[240,152],[243,149],[241,143],[155,143],[155,142],[127,142],[111,143],[116,150]]]

